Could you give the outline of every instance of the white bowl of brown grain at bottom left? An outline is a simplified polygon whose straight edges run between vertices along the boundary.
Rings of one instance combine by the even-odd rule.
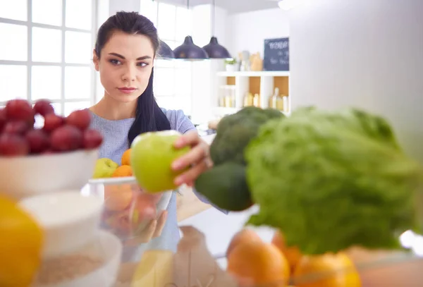
[[[111,287],[121,264],[122,244],[114,234],[97,231],[80,250],[46,259],[32,287]]]

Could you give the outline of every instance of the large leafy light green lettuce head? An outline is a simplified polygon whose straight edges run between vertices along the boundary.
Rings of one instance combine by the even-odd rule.
[[[401,233],[421,231],[422,167],[379,116],[301,109],[265,123],[245,157],[260,207],[247,224],[279,228],[305,254],[396,249]]]

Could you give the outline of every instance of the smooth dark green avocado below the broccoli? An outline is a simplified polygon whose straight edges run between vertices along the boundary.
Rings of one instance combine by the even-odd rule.
[[[202,173],[195,188],[221,209],[238,212],[252,206],[245,179],[245,166],[226,162]]]

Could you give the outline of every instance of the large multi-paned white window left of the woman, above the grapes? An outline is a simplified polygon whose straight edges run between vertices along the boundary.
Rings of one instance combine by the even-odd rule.
[[[0,1],[0,106],[49,99],[67,116],[94,103],[96,2]]]

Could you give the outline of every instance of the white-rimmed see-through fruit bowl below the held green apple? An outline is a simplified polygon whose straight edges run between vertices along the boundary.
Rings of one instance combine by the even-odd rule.
[[[104,200],[101,227],[121,238],[124,245],[152,239],[149,225],[167,209],[172,195],[171,191],[145,193],[133,176],[91,179],[82,193]]]

